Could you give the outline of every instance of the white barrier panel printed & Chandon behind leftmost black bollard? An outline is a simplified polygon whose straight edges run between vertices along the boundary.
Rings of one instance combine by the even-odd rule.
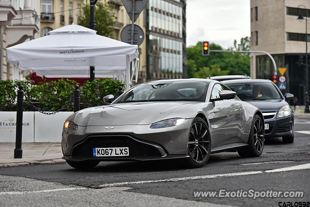
[[[23,143],[34,142],[34,112],[23,112]],[[16,111],[0,111],[0,143],[15,143]]]

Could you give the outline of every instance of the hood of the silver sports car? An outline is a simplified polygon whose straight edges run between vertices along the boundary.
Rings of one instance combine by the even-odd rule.
[[[148,125],[169,118],[192,118],[182,112],[195,102],[135,102],[92,107],[78,111],[67,120],[78,126]],[[172,117],[173,116],[173,117]]]

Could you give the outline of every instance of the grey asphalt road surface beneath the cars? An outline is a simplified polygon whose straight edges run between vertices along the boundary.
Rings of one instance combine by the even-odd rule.
[[[223,189],[231,197],[194,196],[194,191]],[[238,190],[304,195],[253,199],[233,196]],[[88,171],[67,164],[0,168],[0,206],[265,207],[279,202],[310,202],[310,118],[295,118],[294,143],[269,140],[259,158],[214,154],[198,169],[186,169],[180,160],[102,162]]]

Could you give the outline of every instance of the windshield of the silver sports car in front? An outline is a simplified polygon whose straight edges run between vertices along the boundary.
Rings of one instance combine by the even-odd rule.
[[[167,81],[141,84],[114,103],[141,101],[205,101],[206,81]]]

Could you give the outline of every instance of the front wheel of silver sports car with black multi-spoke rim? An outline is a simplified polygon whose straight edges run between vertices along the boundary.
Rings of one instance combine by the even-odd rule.
[[[196,117],[189,128],[187,151],[189,158],[186,159],[186,164],[190,168],[202,167],[210,158],[210,131],[201,117]]]

